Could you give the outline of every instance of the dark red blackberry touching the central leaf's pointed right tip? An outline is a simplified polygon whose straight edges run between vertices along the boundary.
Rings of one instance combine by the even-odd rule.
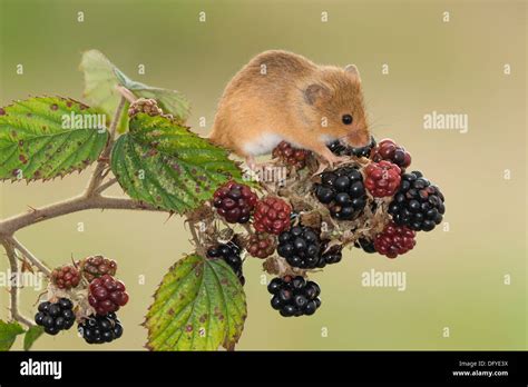
[[[258,197],[250,187],[228,181],[215,191],[213,205],[227,222],[245,224],[250,220],[257,200]]]

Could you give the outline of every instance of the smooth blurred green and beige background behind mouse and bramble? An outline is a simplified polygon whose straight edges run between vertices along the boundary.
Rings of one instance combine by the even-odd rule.
[[[261,261],[247,259],[248,318],[238,349],[526,349],[526,2],[0,3],[2,106],[29,95],[81,99],[80,56],[96,48],[129,77],[186,95],[190,126],[206,133],[225,85],[263,50],[358,64],[374,135],[404,145],[413,167],[442,188],[449,231],[420,234],[414,250],[395,260],[346,251],[339,266],[313,276],[323,305],[309,318],[284,319],[272,310]],[[84,22],[77,21],[79,11]],[[205,23],[198,22],[201,11]],[[450,22],[442,21],[444,11]],[[144,76],[137,73],[140,63]],[[389,75],[382,75],[383,63]],[[506,63],[510,75],[503,73]],[[469,115],[469,132],[424,130],[423,115],[433,110]],[[207,125],[198,130],[199,117]],[[88,176],[1,183],[0,217],[75,195]],[[39,339],[36,349],[141,349],[146,330],[139,324],[151,294],[190,250],[182,219],[160,214],[78,212],[18,237],[50,266],[97,252],[118,260],[131,297],[120,312],[120,340],[94,348],[71,330]],[[405,271],[407,290],[362,287],[362,272],[372,268]],[[7,269],[4,260],[0,269]],[[506,275],[511,285],[503,284]],[[23,291],[28,315],[37,294]],[[4,319],[7,291],[0,291],[0,302]],[[444,327],[449,338],[442,337]]]

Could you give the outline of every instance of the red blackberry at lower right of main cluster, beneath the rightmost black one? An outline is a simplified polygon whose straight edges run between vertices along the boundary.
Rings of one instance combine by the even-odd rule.
[[[374,237],[374,248],[383,256],[395,258],[412,250],[417,244],[415,236],[417,232],[410,228],[390,222],[382,232]]]

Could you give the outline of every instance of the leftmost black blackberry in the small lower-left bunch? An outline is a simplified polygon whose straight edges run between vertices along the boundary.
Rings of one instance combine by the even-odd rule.
[[[41,302],[35,315],[35,322],[43,327],[48,335],[55,336],[60,330],[68,330],[75,322],[74,304],[68,298],[60,298],[57,302]]]

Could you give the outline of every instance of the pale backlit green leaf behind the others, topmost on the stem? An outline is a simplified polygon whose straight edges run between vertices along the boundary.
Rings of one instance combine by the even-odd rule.
[[[118,85],[131,90],[137,97],[156,99],[165,113],[172,113],[182,123],[189,116],[188,101],[176,90],[154,88],[131,80],[100,51],[86,51],[82,54],[80,69],[85,73],[85,98],[110,117],[117,109],[120,99],[120,95],[116,90]],[[119,132],[126,130],[126,111],[127,109],[124,110],[120,118]]]

